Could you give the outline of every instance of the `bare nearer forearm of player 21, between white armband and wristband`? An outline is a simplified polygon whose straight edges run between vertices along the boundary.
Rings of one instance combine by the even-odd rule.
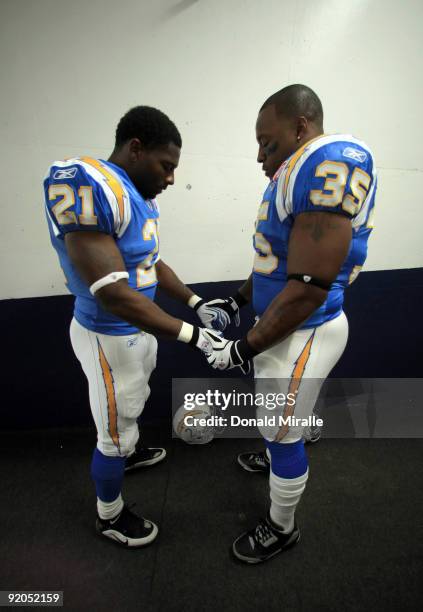
[[[176,339],[182,321],[170,316],[152,300],[131,289],[126,282],[113,283],[96,293],[101,306],[134,327],[155,336]]]

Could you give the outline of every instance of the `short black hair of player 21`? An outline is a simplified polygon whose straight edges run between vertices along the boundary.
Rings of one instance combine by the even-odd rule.
[[[135,106],[119,121],[115,148],[119,149],[131,138],[139,138],[146,149],[166,146],[170,142],[182,147],[182,138],[176,125],[162,111],[152,106]]]

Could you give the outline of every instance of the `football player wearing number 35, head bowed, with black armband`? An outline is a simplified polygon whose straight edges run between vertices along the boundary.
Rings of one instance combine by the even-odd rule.
[[[304,85],[268,98],[256,123],[257,161],[269,179],[259,206],[253,271],[237,296],[214,300],[220,318],[251,302],[258,323],[237,341],[214,337],[214,368],[254,360],[258,390],[294,393],[283,416],[309,417],[321,384],[342,355],[348,323],[344,290],[357,277],[373,227],[376,167],[356,138],[323,133],[323,109]],[[260,563],[298,542],[295,508],[308,478],[303,427],[261,429],[266,452],[238,457],[249,471],[270,471],[267,517],[233,543],[234,555]]]

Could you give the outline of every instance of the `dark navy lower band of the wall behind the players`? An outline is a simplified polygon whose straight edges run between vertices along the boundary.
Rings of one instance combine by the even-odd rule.
[[[204,283],[192,289],[205,298],[235,292],[241,281]],[[196,322],[193,311],[163,294],[157,302],[173,315]],[[331,376],[338,378],[420,378],[423,376],[423,268],[363,272],[347,290],[350,324],[347,349]],[[69,341],[73,297],[3,300],[1,428],[79,426],[91,423],[88,389]],[[253,323],[247,306],[239,337]],[[147,423],[169,423],[172,377],[215,375],[180,342],[159,343],[152,395],[144,411]],[[216,374],[217,375],[217,374]]]

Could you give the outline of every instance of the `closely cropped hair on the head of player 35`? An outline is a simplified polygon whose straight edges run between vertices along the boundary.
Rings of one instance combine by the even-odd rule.
[[[286,117],[306,117],[312,123],[323,127],[323,106],[317,94],[307,85],[288,85],[280,89],[269,98],[261,107],[275,106],[278,115]]]

